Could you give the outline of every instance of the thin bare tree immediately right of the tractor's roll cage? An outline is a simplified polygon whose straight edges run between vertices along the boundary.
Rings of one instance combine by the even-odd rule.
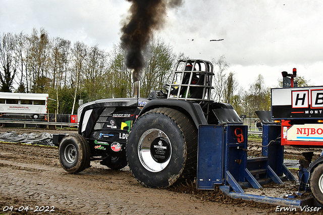
[[[226,62],[224,55],[220,56],[218,60],[212,59],[212,62],[214,64],[214,70],[217,69],[217,73],[213,78],[214,92],[212,93],[212,97],[214,100],[221,101],[223,99],[226,82],[225,71],[230,67],[230,64]]]

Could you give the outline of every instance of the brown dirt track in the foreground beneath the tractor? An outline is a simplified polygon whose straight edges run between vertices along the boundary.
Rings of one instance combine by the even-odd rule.
[[[0,143],[0,214],[6,206],[54,207],[48,214],[269,214],[276,208],[191,185],[145,188],[128,167],[112,171],[91,165],[71,175],[61,168],[57,147]]]

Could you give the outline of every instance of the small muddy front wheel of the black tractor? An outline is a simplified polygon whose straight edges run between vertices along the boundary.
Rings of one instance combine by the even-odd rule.
[[[59,147],[60,163],[69,173],[79,173],[90,166],[90,147],[79,134],[65,136]]]

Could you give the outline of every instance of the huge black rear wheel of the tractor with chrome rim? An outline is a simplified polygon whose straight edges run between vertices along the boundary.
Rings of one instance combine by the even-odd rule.
[[[171,108],[151,110],[134,123],[127,140],[134,177],[147,187],[168,187],[196,177],[197,129]]]

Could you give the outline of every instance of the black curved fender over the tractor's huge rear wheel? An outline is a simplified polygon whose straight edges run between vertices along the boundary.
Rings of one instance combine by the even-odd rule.
[[[161,107],[172,108],[184,113],[193,120],[196,128],[198,128],[198,125],[207,125],[207,121],[205,119],[201,106],[198,103],[193,103],[186,100],[153,99],[145,104],[138,117],[152,109]]]

